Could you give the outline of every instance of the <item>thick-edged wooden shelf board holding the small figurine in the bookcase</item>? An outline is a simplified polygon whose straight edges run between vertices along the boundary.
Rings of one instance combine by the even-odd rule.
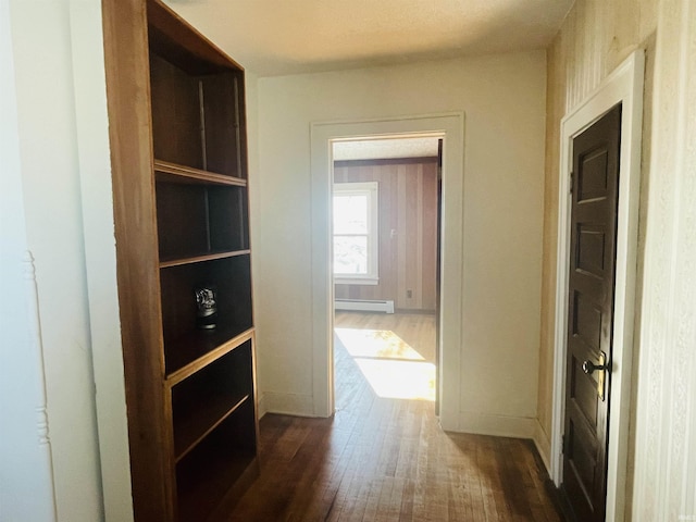
[[[179,345],[189,345],[188,352],[201,352],[199,357],[185,358],[183,356],[172,357],[166,362],[174,369],[166,376],[167,386],[181,383],[189,375],[198,372],[211,362],[220,359],[225,353],[234,350],[241,344],[249,340],[253,335],[253,328],[229,338],[228,330],[216,328],[212,332],[197,331],[188,334],[175,343],[178,347],[171,349],[170,353],[186,353],[186,349]],[[174,360],[172,360],[174,359]]]

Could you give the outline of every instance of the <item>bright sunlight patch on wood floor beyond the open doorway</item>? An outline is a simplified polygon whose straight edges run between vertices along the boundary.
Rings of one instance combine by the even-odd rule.
[[[394,332],[336,328],[336,335],[377,396],[435,400],[435,364]]]

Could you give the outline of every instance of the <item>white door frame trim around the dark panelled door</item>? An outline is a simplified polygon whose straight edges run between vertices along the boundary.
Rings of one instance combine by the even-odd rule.
[[[570,172],[572,140],[617,103],[622,103],[617,222],[613,348],[611,361],[611,411],[607,452],[607,521],[623,521],[631,406],[631,369],[635,309],[635,275],[638,238],[643,79],[645,54],[634,51],[579,107],[561,121],[561,156],[556,279],[556,331],[551,478],[562,481],[561,437],[566,397],[566,328],[568,323],[568,264],[570,261]]]

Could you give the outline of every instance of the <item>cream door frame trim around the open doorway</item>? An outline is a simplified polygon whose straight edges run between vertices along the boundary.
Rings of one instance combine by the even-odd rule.
[[[331,259],[332,142],[374,136],[444,137],[443,245],[440,277],[439,418],[456,428],[460,410],[461,311],[463,282],[464,114],[425,114],[369,121],[312,123],[312,394],[314,415],[334,413],[333,313]]]

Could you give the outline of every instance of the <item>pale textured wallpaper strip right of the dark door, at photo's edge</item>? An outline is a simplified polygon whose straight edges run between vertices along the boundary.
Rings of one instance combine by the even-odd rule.
[[[696,2],[661,0],[633,520],[696,520]]]

